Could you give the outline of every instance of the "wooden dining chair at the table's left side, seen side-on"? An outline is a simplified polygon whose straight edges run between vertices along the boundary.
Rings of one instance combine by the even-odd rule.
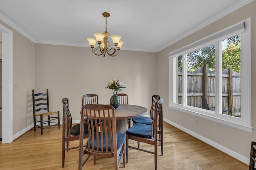
[[[76,147],[68,147],[70,141],[79,140],[80,124],[72,126],[72,116],[69,109],[68,98],[62,99],[63,103],[63,117],[62,117],[62,167],[65,166],[65,150],[68,152],[70,149],[77,149]],[[84,123],[84,136],[83,139],[88,138],[88,126]],[[66,147],[65,147],[66,143]]]

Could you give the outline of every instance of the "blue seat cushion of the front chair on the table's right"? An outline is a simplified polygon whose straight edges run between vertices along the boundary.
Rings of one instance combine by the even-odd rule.
[[[127,135],[132,135],[136,137],[143,137],[147,139],[152,138],[152,126],[142,123],[134,124],[130,129],[126,131]]]

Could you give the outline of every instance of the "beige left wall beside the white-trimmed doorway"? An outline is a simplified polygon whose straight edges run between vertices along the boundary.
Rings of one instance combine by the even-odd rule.
[[[18,88],[13,89],[15,135],[33,123],[31,91],[35,87],[35,44],[1,20],[0,24],[13,31],[13,83],[18,84]]]

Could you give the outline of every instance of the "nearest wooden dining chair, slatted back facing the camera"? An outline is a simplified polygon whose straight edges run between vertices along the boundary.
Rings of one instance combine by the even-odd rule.
[[[79,142],[79,161],[78,169],[82,170],[82,166],[87,162],[90,156],[94,156],[94,164],[96,164],[96,156],[98,157],[113,157],[114,169],[118,170],[120,162],[123,158],[125,167],[125,139],[124,133],[116,133],[116,117],[113,106],[103,104],[87,104],[82,106],[81,122],[84,121],[84,115],[90,121],[88,123],[89,133],[86,147],[83,149],[84,140],[82,134],[84,127],[80,125],[80,142]],[[93,129],[97,125],[93,119],[99,119],[99,127]],[[83,156],[88,157],[83,161]]]

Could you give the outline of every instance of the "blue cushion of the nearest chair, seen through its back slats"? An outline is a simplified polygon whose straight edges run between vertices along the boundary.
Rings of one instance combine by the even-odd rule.
[[[125,138],[126,138],[126,135],[124,133],[116,133],[117,149],[119,149],[122,146],[122,144],[125,141]],[[86,146],[87,147],[88,147],[88,143],[89,143],[89,139],[86,142]],[[99,139],[98,139],[98,147],[99,147],[99,150],[102,150],[100,133],[99,133]],[[92,149],[92,136],[91,136],[91,140],[90,140],[90,149]],[[94,150],[97,150],[96,134],[94,135]],[[110,148],[110,135],[109,135],[109,133],[108,133],[108,150],[109,151],[111,150],[111,148]],[[103,133],[103,151],[106,151],[105,133]]]

